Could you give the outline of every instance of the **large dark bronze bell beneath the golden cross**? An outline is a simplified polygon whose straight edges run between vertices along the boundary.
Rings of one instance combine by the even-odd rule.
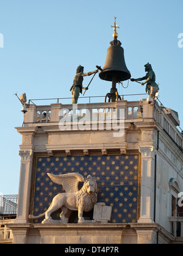
[[[117,39],[110,42],[110,46],[107,49],[106,62],[99,73],[99,78],[106,81],[116,79],[116,82],[131,78],[131,73],[124,61],[124,49],[121,47],[121,42]]]

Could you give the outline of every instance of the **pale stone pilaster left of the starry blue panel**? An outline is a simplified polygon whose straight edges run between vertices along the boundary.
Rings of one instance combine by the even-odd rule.
[[[21,167],[18,192],[18,210],[14,223],[24,224],[29,222],[30,181],[33,153],[32,150],[25,150],[20,151],[19,155],[21,156]]]

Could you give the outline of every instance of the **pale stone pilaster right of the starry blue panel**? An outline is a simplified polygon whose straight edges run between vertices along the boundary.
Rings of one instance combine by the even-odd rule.
[[[154,147],[140,147],[142,153],[140,219],[138,223],[153,223],[154,219]]]

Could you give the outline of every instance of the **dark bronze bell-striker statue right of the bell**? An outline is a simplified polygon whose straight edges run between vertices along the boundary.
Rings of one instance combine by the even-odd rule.
[[[144,86],[146,83],[146,92],[149,93],[150,87],[156,87],[156,92],[158,92],[159,87],[158,84],[156,84],[155,80],[156,80],[156,75],[154,73],[154,71],[152,70],[151,64],[149,64],[149,62],[145,65],[145,71],[147,72],[145,76],[143,76],[143,78],[137,78],[134,79],[132,78],[131,81],[132,82],[137,82],[137,81],[142,81],[145,80],[145,82],[141,82],[140,84],[142,84],[142,86]]]

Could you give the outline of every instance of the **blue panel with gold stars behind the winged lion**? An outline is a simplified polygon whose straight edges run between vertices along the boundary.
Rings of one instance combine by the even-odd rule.
[[[53,183],[47,173],[66,174],[78,172],[87,177],[95,176],[98,184],[98,202],[112,206],[112,223],[137,222],[138,191],[140,188],[140,156],[38,156],[35,165],[34,199],[31,214],[46,211],[54,196],[64,192],[61,185]],[[82,183],[79,184],[79,188]],[[61,210],[60,210],[61,211]],[[60,212],[59,212],[60,214]],[[56,217],[59,219],[59,214]],[[54,218],[54,216],[52,216]],[[42,219],[34,222],[40,223]]]

